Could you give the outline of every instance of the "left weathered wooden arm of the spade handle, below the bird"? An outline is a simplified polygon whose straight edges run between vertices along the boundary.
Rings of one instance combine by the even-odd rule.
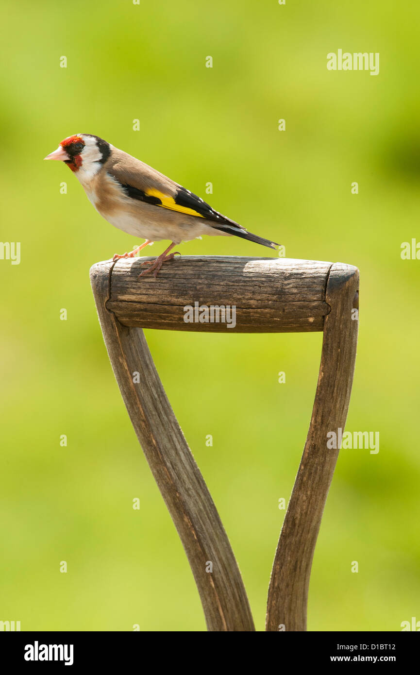
[[[90,270],[109,359],[132,425],[174,520],[209,630],[252,631],[242,578],[213,499],[167,400],[142,330],[122,325],[106,308],[113,263]],[[133,381],[137,372],[138,383]],[[206,568],[211,562],[213,571]],[[176,624],[176,620],[174,625]]]

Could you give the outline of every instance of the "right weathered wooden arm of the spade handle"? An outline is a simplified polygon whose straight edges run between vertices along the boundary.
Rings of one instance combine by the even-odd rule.
[[[309,576],[323,508],[338,450],[327,449],[327,433],[344,429],[355,369],[359,271],[332,265],[325,301],[321,366],[311,425],[275,553],[267,603],[267,630],[306,630]]]

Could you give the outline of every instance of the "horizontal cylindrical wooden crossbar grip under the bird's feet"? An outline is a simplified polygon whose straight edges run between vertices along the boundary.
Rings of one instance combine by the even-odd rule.
[[[150,258],[121,259],[111,269],[107,309],[125,326],[215,333],[307,332],[323,330],[330,312],[325,288],[332,263],[190,256],[165,263],[156,278],[150,274],[139,279],[147,269],[141,266],[145,260]],[[188,313],[192,321],[185,320]]]

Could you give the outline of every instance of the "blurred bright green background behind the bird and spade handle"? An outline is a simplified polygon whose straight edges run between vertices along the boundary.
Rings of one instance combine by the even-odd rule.
[[[308,627],[400,630],[419,620],[420,261],[400,258],[401,242],[420,238],[419,5],[51,0],[3,2],[3,10],[0,238],[22,242],[22,261],[0,261],[0,620],[20,620],[22,630],[205,630],[90,291],[90,265],[139,242],[96,213],[67,167],[43,163],[78,132],[153,165],[280,241],[287,257],[359,267],[346,429],[379,431],[380,450],[340,453]],[[339,48],[379,52],[379,75],[327,71],[327,53]],[[68,68],[59,67],[63,55]],[[269,255],[238,238],[181,250]],[[321,338],[147,334],[257,630]]]

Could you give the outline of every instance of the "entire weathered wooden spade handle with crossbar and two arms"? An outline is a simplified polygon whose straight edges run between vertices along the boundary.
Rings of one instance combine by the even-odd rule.
[[[275,553],[267,605],[266,630],[306,630],[313,552],[338,456],[338,450],[327,450],[327,433],[344,429],[355,367],[359,271],[317,261],[182,257],[163,265],[156,279],[138,279],[143,260],[148,259],[97,263],[90,279],[117,383],[184,545],[209,630],[255,628],[228,537],[140,328],[323,331],[311,425]],[[186,323],[185,307],[195,302],[235,306],[235,327],[220,321]]]

